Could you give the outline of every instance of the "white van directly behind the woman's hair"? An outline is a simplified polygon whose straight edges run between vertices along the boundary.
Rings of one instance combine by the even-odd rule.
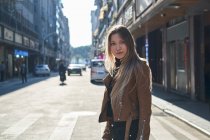
[[[90,81],[93,82],[102,82],[108,72],[104,66],[103,59],[92,59],[91,64],[91,73],[90,73]]]

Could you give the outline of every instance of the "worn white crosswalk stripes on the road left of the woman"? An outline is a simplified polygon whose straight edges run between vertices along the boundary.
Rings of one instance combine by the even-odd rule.
[[[76,125],[76,122],[78,120],[79,116],[93,116],[96,115],[96,112],[88,112],[88,111],[82,111],[82,112],[71,112],[71,113],[64,113],[61,114],[60,119],[57,120],[55,124],[52,124],[50,127],[53,127],[51,132],[48,134],[48,136],[44,136],[43,140],[70,140],[71,135],[74,131],[74,127]],[[15,123],[12,122],[11,124],[7,124],[9,127],[5,128],[5,130],[2,130],[3,126],[1,126],[1,121],[5,120],[7,121],[7,117],[9,117],[8,114],[0,114],[0,140],[41,140],[41,136],[36,136],[36,134],[25,134],[28,133],[27,130],[31,129],[33,125],[40,124],[40,122],[43,123],[43,114],[40,113],[32,113],[28,114],[25,117],[23,117],[20,120],[17,120]],[[15,117],[15,116],[13,116]],[[49,116],[52,117],[52,116]],[[41,121],[42,120],[42,121]],[[40,122],[39,122],[40,121]],[[10,122],[8,122],[10,123]],[[42,124],[43,126],[43,124]],[[47,124],[46,124],[47,126]],[[48,127],[48,126],[47,126]],[[39,129],[46,129],[45,127],[39,127]],[[19,138],[23,137],[23,138]],[[37,139],[36,139],[37,138]]]

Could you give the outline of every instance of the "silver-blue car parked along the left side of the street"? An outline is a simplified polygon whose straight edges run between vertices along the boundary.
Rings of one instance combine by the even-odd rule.
[[[34,75],[35,76],[50,76],[50,68],[47,64],[39,64],[39,65],[36,65],[35,66],[35,69],[34,69]]]

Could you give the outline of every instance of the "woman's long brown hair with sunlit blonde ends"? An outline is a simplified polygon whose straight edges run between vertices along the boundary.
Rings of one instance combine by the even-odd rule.
[[[111,37],[114,34],[119,34],[119,36],[124,40],[128,50],[126,55],[121,59],[121,65],[115,77],[117,82],[112,90],[112,93],[117,92],[119,94],[123,94],[124,87],[131,79],[134,69],[136,69],[137,66],[140,66],[141,62],[145,60],[138,56],[136,52],[136,45],[130,31],[123,25],[115,25],[109,30],[105,51],[105,67],[111,75],[113,74],[113,70],[115,68],[115,57],[111,53],[110,49]],[[142,70],[141,72],[143,73]]]

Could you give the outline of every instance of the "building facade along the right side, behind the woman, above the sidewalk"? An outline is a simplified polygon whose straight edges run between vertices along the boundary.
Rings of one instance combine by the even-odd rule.
[[[154,85],[191,99],[208,100],[208,0],[113,0],[109,6],[116,10],[106,32],[114,24],[129,28],[139,55],[149,62]]]

